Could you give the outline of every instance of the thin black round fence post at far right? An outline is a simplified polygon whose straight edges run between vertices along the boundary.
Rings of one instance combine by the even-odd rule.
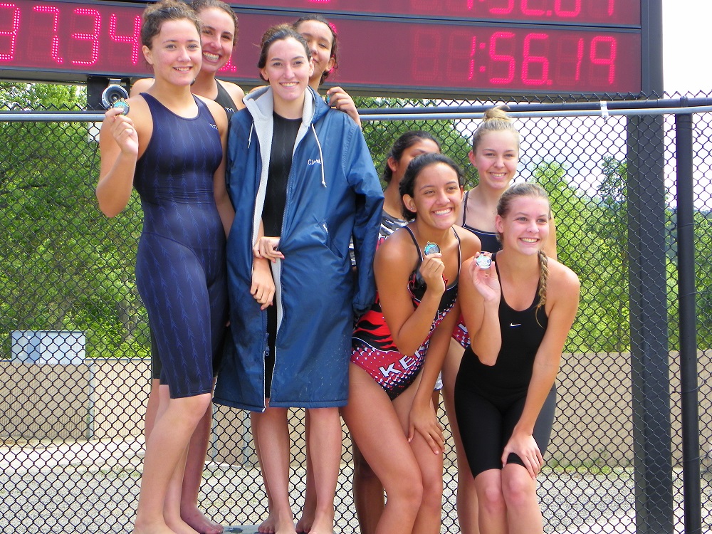
[[[686,99],[684,99],[686,100]],[[702,532],[700,419],[698,412],[697,314],[695,277],[694,192],[692,177],[693,116],[675,116],[677,159],[678,294],[680,299],[680,389],[682,410],[682,476],[685,532]]]

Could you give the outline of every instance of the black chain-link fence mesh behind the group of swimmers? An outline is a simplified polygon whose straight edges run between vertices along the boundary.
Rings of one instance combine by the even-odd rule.
[[[115,219],[98,211],[95,114],[78,113],[76,120],[18,116],[59,109],[53,90],[0,84],[0,530],[128,532],[140,489],[150,387],[150,333],[133,268],[142,214],[136,196]],[[81,110],[83,88],[63,90],[76,104],[71,110]],[[476,183],[467,152],[479,119],[463,106],[491,103],[358,100],[370,108],[366,119],[402,108],[389,113],[392,120],[364,122],[379,171],[400,133],[424,129],[466,167],[468,185]],[[654,106],[654,99],[648,103]],[[462,114],[417,115],[444,105]],[[698,515],[703,530],[710,530],[712,115],[699,113],[693,121],[697,382],[686,384],[679,353],[674,115],[607,115],[600,108],[596,117],[577,116],[554,107],[550,116],[517,118],[518,180],[537,181],[550,192],[560,261],[582,282],[580,312],[557,379],[548,463],[539,477],[545,531],[683,532],[684,516],[700,497]],[[527,108],[530,115],[543,109]],[[398,114],[404,111],[408,115]],[[698,427],[682,424],[689,418],[681,397],[690,388]],[[449,444],[442,531],[456,533],[454,447],[442,404],[439,413]],[[303,412],[290,414],[293,434],[301,435]],[[248,414],[215,407],[213,425],[200,504],[224,525],[258,524],[266,518],[267,498]],[[684,455],[684,436],[693,439],[692,459]],[[358,525],[346,431],[344,438],[337,531],[348,534]],[[298,512],[305,491],[303,441],[292,452]],[[692,492],[684,490],[689,480],[682,467],[690,460],[692,466],[701,461],[698,491]],[[694,468],[687,477],[690,472]]]

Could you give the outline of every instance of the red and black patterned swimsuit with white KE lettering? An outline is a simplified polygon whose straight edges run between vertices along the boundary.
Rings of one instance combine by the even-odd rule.
[[[409,232],[413,243],[418,249],[418,264],[408,281],[408,293],[413,300],[413,307],[420,304],[420,300],[426,290],[426,284],[419,276],[420,264],[423,261],[423,253],[418,246],[418,242],[408,226],[404,227]],[[460,264],[460,238],[453,230],[458,241],[458,266]],[[459,267],[458,267],[459,277]],[[437,326],[442,323],[445,316],[452,310],[457,297],[458,277],[455,278],[452,286],[447,286],[443,293],[438,313],[425,340],[413,355],[404,355],[399,352],[393,341],[391,331],[386,324],[381,310],[379,295],[376,294],[376,301],[356,323],[353,336],[351,338],[351,361],[368,372],[371,377],[380,384],[390,399],[395,399],[414,382],[418,373],[423,367],[425,354],[428,350],[430,337]]]

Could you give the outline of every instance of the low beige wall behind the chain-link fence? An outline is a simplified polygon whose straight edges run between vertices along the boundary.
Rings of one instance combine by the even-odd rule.
[[[674,461],[681,460],[679,364],[670,355]],[[703,451],[712,444],[710,354],[699,354]],[[706,375],[704,375],[706,373]],[[0,362],[0,438],[121,439],[140,436],[149,392],[150,362],[85,360],[83,365]],[[557,379],[557,419],[548,459],[563,464],[632,460],[632,408],[628,354],[564,355]],[[290,417],[293,456],[303,464],[303,411]],[[446,418],[444,419],[446,424]],[[256,464],[249,417],[216,407],[209,456],[226,464]],[[345,448],[350,447],[345,432]]]

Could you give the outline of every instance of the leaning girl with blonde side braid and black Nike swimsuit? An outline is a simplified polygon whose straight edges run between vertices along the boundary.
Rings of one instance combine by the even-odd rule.
[[[471,344],[455,382],[455,412],[482,534],[543,533],[536,476],[579,302],[575,273],[543,251],[550,216],[543,188],[515,184],[497,206],[501,250],[463,265],[458,295]],[[478,256],[490,256],[491,266]]]

